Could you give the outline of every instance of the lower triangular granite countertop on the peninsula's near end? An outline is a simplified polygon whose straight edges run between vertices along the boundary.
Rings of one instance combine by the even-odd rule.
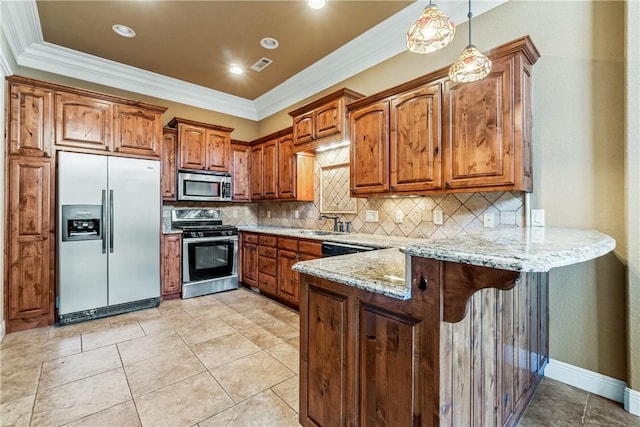
[[[299,262],[293,269],[393,298],[411,298],[405,282],[405,255],[397,248]]]

